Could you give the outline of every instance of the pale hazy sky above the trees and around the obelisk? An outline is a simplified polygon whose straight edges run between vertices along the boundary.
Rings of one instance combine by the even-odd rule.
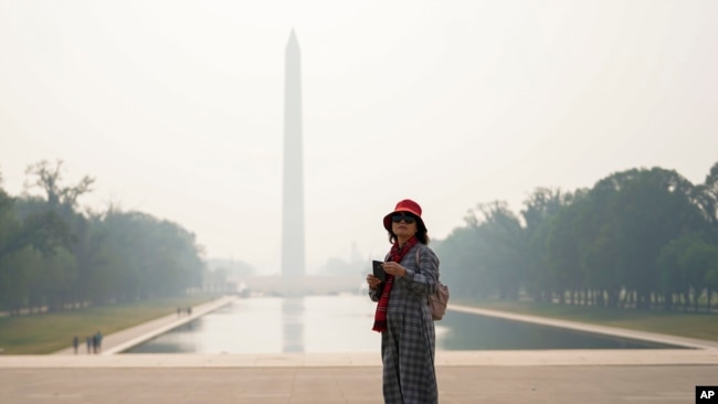
[[[718,1],[0,0],[0,172],[177,222],[277,273],[284,51],[303,56],[307,268],[479,202],[718,161]],[[35,191],[36,192],[36,191]]]

